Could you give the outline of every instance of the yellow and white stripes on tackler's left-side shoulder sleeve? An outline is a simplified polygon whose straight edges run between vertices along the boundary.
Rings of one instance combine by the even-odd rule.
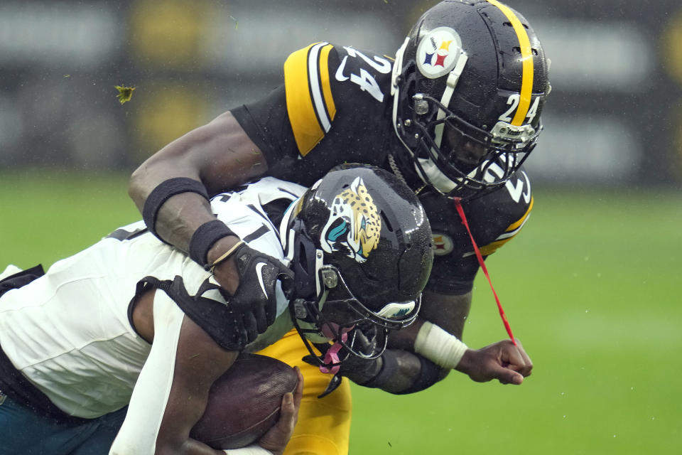
[[[301,156],[325,136],[336,114],[328,67],[331,48],[328,43],[314,43],[284,62],[286,108]]]

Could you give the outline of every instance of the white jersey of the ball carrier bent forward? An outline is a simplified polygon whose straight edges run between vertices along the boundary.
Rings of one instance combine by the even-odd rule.
[[[263,205],[295,200],[305,188],[264,178],[243,191],[211,201],[213,212],[249,246],[282,260],[279,226]],[[144,231],[143,222],[124,226],[92,247],[55,262],[31,284],[0,299],[0,346],[14,367],[67,414],[93,418],[129,403],[151,346],[131,325],[129,306],[140,279],[183,277],[190,294],[210,277],[174,247]],[[256,235],[254,235],[254,232]],[[288,264],[287,264],[288,265]],[[205,294],[222,300],[220,293]],[[293,324],[279,284],[274,326],[249,346],[268,346]],[[81,387],[83,383],[86,387]]]

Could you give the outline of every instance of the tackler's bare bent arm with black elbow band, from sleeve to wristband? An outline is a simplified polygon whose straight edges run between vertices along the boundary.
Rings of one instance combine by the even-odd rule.
[[[147,159],[132,174],[128,192],[143,215],[153,215],[152,226],[150,217],[145,217],[148,228],[187,252],[197,228],[215,219],[207,198],[266,170],[259,149],[232,114],[225,112]],[[169,181],[175,183],[168,186]],[[160,186],[173,196],[161,197]],[[151,204],[154,198],[157,203]]]

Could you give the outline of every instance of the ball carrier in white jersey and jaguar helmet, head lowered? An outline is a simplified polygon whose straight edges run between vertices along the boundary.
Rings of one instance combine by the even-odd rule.
[[[334,373],[346,358],[377,358],[389,332],[416,319],[431,228],[393,174],[342,166],[308,190],[264,178],[211,208],[243,247],[206,269],[139,222],[45,274],[0,280],[2,454],[222,454],[188,435],[240,352],[295,327]],[[231,255],[256,274],[234,295],[211,270]],[[274,296],[272,323],[256,336],[244,319],[249,296],[263,295]],[[299,386],[274,430],[227,454],[281,454],[300,400]]]

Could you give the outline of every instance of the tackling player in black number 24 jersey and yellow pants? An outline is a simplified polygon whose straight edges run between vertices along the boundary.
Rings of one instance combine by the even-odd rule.
[[[520,343],[474,350],[460,341],[480,267],[462,222],[486,257],[519,232],[533,206],[521,165],[541,132],[550,85],[528,21],[497,0],[441,1],[413,26],[395,59],[322,42],[289,55],[283,73],[283,85],[263,99],[188,132],[134,172],[129,193],[148,227],[210,264],[239,239],[215,224],[202,228],[214,220],[206,193],[266,175],[308,185],[344,162],[382,166],[426,208],[433,272],[421,321],[394,336],[378,360],[340,374],[394,393],[423,390],[452,369],[476,381],[520,384],[532,369]],[[215,277],[229,282],[236,270],[225,261]],[[317,400],[329,375],[302,364],[286,338],[266,354],[300,365],[305,376],[287,453],[345,454],[347,380]],[[328,414],[334,419],[318,418]]]

